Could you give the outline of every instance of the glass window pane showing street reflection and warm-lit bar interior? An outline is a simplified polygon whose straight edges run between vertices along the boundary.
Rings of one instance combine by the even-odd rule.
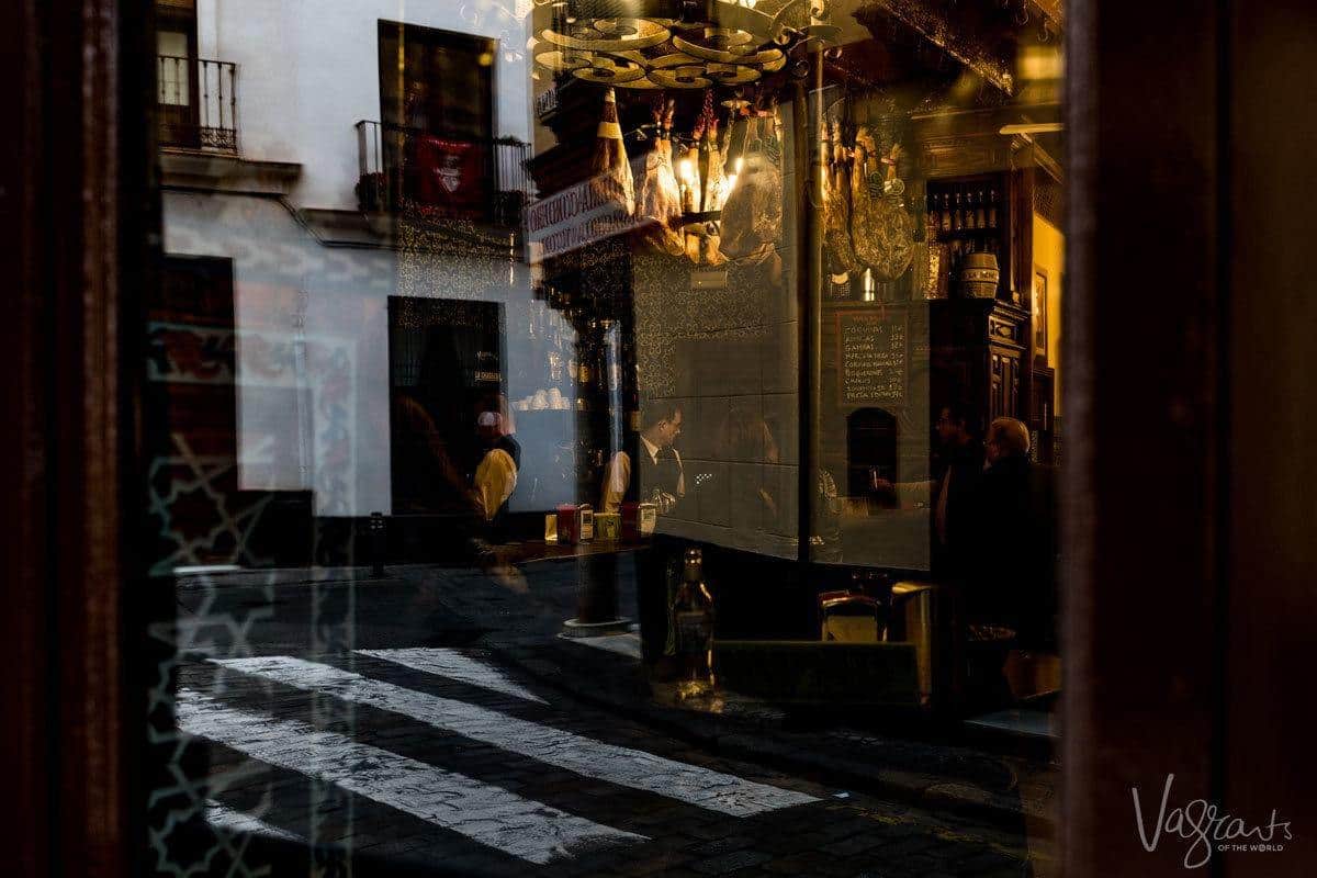
[[[158,34],[153,867],[1052,874],[1059,4],[258,5]]]

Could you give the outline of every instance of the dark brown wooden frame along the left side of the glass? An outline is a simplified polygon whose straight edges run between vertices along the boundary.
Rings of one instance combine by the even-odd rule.
[[[20,875],[133,874],[145,811],[125,686],[137,412],[153,283],[155,47],[145,0],[0,4],[0,758]],[[145,716],[145,713],[142,713]]]

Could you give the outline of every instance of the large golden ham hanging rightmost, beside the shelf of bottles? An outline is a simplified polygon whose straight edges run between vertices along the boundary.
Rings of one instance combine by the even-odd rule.
[[[878,280],[896,280],[914,258],[914,219],[905,209],[903,186],[896,174],[900,149],[893,146],[884,158],[868,128],[855,133],[851,242],[860,262],[873,269]]]

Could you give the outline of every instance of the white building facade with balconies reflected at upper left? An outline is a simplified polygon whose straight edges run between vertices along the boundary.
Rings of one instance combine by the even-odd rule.
[[[174,76],[174,95],[162,75],[162,103],[195,103],[202,141],[208,117],[236,136],[236,150],[163,138],[161,172],[166,254],[228,261],[232,270],[237,487],[309,492],[316,517],[394,513],[390,299],[493,303],[503,325],[537,328],[532,342],[570,346],[572,329],[535,299],[512,220],[454,222],[443,226],[448,234],[363,200],[362,178],[387,170],[379,143],[389,130],[381,136],[379,122],[402,112],[387,105],[394,59],[382,54],[394,43],[383,34],[402,25],[404,39],[493,41],[477,61],[489,67],[491,113],[475,124],[493,157],[486,170],[498,161],[515,174],[525,157],[516,143],[531,128],[523,18],[511,0],[159,5],[179,29],[195,9],[195,34],[170,36],[173,25],[162,25],[162,65],[190,45],[202,59]],[[223,66],[209,68],[212,61]],[[410,101],[408,88],[398,93]],[[491,191],[500,186],[510,184]],[[516,190],[531,195],[524,174]],[[502,345],[502,392],[533,398],[548,369],[543,345],[528,344],[525,332],[504,333]],[[556,475],[556,458],[573,448],[566,415],[523,419],[514,509],[573,499],[574,484]]]

